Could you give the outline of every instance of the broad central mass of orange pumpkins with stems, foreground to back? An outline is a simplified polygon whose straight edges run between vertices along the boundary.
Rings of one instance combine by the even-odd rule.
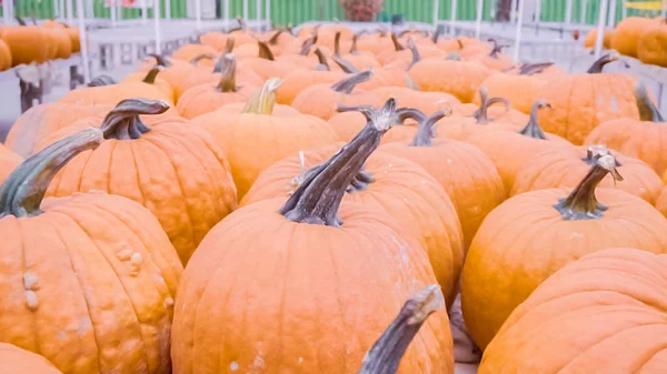
[[[31,108],[0,146],[0,361],[664,373],[664,117],[617,54],[502,47],[239,22]]]

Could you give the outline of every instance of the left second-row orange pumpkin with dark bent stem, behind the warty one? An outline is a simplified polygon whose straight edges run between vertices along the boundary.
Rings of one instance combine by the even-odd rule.
[[[103,120],[82,119],[56,132],[52,139],[99,125],[104,141],[68,163],[48,195],[97,190],[133,200],[156,215],[186,264],[206,233],[237,208],[236,188],[222,150],[207,133],[181,118],[162,115],[151,127],[139,118],[168,108],[128,99]]]

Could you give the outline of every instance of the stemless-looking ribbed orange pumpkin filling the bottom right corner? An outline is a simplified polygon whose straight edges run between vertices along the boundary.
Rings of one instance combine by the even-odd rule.
[[[512,313],[478,373],[664,373],[666,274],[664,254],[610,249],[585,256]]]

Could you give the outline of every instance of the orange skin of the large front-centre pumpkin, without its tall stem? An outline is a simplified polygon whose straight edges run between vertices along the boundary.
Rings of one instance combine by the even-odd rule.
[[[399,300],[435,282],[424,249],[382,212],[344,203],[332,228],[288,221],[283,203],[239,209],[198,247],[178,291],[175,374],[354,373]],[[446,314],[399,373],[454,373]]]

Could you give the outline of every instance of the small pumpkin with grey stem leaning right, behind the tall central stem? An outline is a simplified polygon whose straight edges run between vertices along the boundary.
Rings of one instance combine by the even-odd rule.
[[[334,85],[315,84],[301,91],[293,100],[292,107],[303,114],[328,120],[337,112],[337,105],[378,107],[379,100],[370,92],[356,89],[357,84],[367,81],[372,71],[367,70],[340,80]]]

